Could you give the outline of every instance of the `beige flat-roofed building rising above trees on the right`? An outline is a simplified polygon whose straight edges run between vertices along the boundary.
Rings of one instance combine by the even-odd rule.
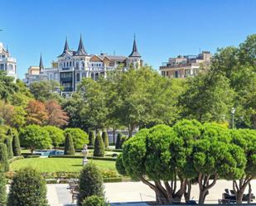
[[[159,69],[162,76],[169,78],[191,77],[208,69],[211,58],[210,51],[203,51],[199,55],[178,55],[176,58],[169,58]]]

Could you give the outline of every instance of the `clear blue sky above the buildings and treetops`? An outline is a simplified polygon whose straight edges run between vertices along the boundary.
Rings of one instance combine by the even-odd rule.
[[[256,31],[254,0],[1,0],[0,41],[28,66],[51,65],[68,36],[89,53],[129,55],[133,33],[143,60],[158,69],[168,57],[238,46]]]

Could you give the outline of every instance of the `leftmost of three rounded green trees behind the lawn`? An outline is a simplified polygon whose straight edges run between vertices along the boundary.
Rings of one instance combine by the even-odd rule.
[[[19,134],[22,146],[31,150],[46,149],[51,147],[51,137],[49,133],[38,125],[28,125],[24,127]]]

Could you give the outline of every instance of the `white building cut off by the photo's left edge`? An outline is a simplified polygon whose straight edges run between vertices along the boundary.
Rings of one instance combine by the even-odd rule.
[[[16,59],[3,47],[2,42],[0,42],[0,70],[5,71],[7,76],[13,77],[14,80],[17,79]]]

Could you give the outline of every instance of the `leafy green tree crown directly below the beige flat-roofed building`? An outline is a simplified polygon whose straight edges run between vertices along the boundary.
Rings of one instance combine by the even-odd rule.
[[[233,105],[234,91],[229,80],[215,73],[201,73],[188,80],[179,104],[181,116],[200,122],[224,122]]]

